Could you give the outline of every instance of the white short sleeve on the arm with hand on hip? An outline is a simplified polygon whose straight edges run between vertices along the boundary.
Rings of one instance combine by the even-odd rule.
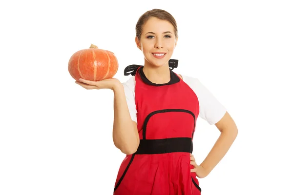
[[[227,109],[217,98],[199,81],[198,78],[182,76],[184,82],[194,91],[199,101],[199,117],[209,124],[217,123],[224,117]]]

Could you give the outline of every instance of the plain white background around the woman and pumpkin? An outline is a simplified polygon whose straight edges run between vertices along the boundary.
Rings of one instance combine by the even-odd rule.
[[[179,74],[199,78],[239,134],[203,195],[292,195],[290,0],[1,1],[0,195],[111,195],[125,155],[112,141],[113,92],[85,90],[68,60],[91,43],[115,53],[121,82],[142,64],[135,24],[161,8],[178,23]],[[198,119],[198,164],[219,136]]]

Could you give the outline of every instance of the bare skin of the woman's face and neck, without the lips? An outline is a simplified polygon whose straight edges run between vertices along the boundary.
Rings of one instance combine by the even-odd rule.
[[[168,61],[177,45],[177,40],[173,25],[154,17],[146,21],[140,39],[135,38],[137,47],[145,56],[143,71],[151,82],[159,84],[170,80]],[[164,52],[166,55],[163,59],[157,59],[152,54],[155,52]]]

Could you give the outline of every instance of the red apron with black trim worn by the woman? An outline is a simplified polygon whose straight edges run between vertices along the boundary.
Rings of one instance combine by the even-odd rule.
[[[190,173],[197,96],[171,69],[166,84],[150,82],[142,66],[135,73],[140,145],[123,160],[114,195],[200,195],[196,174]]]

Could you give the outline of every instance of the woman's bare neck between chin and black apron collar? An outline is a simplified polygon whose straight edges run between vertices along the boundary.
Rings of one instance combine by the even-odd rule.
[[[145,60],[143,72],[148,80],[156,84],[164,84],[171,79],[168,62],[163,66],[156,67]]]

